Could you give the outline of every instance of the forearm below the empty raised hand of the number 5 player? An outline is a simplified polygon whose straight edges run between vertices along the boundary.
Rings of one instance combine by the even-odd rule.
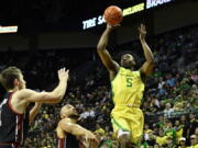
[[[145,39],[141,39],[141,44],[142,44],[142,48],[144,50],[144,56],[147,62],[154,62],[154,57],[153,57],[153,53],[150,48],[150,46],[147,45],[147,43],[145,42]]]

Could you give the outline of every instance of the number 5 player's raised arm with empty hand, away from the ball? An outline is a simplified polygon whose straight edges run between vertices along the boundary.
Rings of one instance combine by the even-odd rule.
[[[147,77],[153,71],[153,68],[154,68],[154,57],[153,57],[153,53],[152,53],[150,46],[145,42],[145,35],[146,35],[145,25],[141,24],[141,26],[139,27],[139,31],[140,31],[140,41],[141,41],[141,44],[142,44],[142,48],[144,50],[145,59],[146,59],[146,61],[141,67],[141,72],[145,77]]]

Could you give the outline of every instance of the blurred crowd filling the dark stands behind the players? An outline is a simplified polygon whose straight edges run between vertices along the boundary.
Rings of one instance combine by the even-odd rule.
[[[145,116],[142,148],[198,148],[198,26],[148,37],[147,42],[156,66],[146,81],[142,100]],[[122,50],[132,50],[139,66],[144,61],[139,41],[109,48],[116,59]],[[42,104],[30,126],[25,148],[55,147],[59,110],[67,103],[78,110],[80,125],[98,136],[100,148],[119,147],[112,135],[113,103],[108,72],[96,49],[78,52],[9,49],[1,53],[0,69],[18,66],[26,76],[28,87],[36,91],[55,87],[58,68],[70,69],[65,99],[59,104]]]

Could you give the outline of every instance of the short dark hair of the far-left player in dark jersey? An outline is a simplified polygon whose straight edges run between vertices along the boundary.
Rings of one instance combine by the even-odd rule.
[[[8,67],[0,73],[0,82],[4,89],[10,90],[14,88],[14,79],[20,79],[21,70],[16,67]]]

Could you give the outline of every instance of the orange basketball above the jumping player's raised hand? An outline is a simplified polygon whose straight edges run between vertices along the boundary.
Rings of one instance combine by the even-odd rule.
[[[105,20],[110,25],[117,25],[122,22],[122,10],[117,5],[110,5],[105,10]]]

